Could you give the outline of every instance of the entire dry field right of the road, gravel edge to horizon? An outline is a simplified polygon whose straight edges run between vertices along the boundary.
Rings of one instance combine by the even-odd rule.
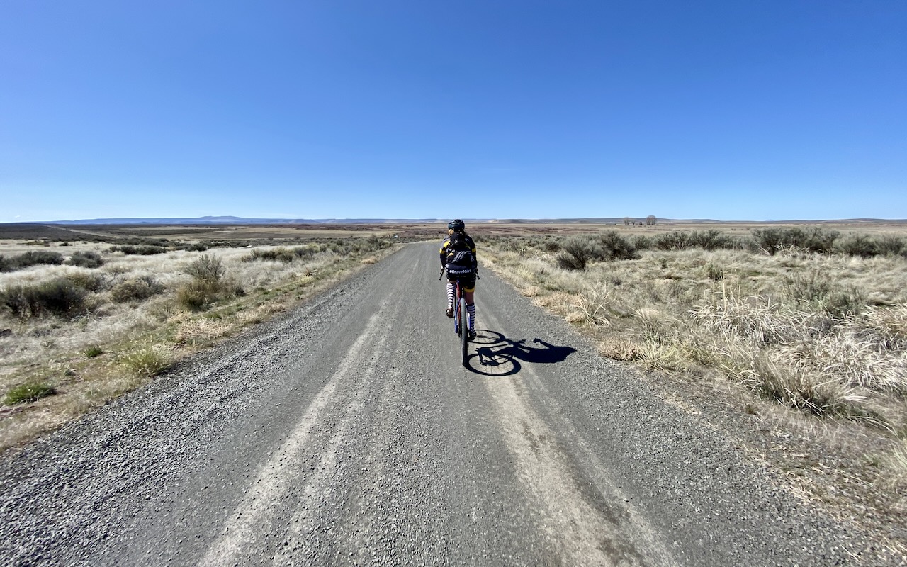
[[[760,246],[753,235],[771,227],[813,240]],[[639,365],[684,411],[712,407],[729,420],[712,425],[730,443],[907,550],[907,225],[771,227],[585,226],[477,240],[484,268],[602,356]]]

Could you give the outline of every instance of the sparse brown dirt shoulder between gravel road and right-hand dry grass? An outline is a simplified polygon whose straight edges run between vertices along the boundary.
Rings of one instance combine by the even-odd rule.
[[[756,461],[773,467],[787,488],[835,519],[873,533],[892,559],[907,564],[904,494],[886,485],[880,455],[891,435],[844,420],[819,420],[701,376],[640,369],[668,404],[697,415]]]

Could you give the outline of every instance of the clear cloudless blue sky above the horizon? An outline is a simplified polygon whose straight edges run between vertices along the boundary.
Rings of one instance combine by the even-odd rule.
[[[0,4],[0,222],[907,218],[907,2]]]

